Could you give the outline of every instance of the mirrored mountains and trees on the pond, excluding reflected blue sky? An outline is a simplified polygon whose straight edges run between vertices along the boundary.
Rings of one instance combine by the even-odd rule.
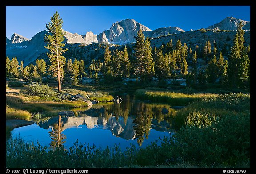
[[[163,108],[168,109],[168,114],[161,112]],[[50,145],[53,148],[65,142],[66,136],[62,133],[64,130],[81,126],[86,126],[89,130],[110,131],[113,136],[126,140],[136,139],[141,146],[150,137],[151,129],[169,133],[174,131],[174,112],[169,105],[134,101],[127,96],[118,104],[99,103],[92,108],[73,110],[66,115],[49,117],[48,120],[36,120],[36,124],[44,129],[52,129],[49,133],[52,139]]]

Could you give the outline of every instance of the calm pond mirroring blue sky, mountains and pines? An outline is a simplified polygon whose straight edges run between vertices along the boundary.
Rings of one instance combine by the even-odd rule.
[[[120,103],[99,103],[65,115],[44,116],[34,120],[34,124],[15,128],[12,138],[38,141],[48,147],[63,144],[69,148],[78,140],[101,148],[117,144],[125,150],[130,144],[146,147],[155,140],[160,144],[159,139],[170,137],[176,131],[174,110],[169,105],[135,101],[129,95],[121,97]],[[163,108],[169,112],[161,112]]]

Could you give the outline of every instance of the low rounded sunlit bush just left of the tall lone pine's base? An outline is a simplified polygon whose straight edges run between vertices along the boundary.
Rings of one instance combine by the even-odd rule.
[[[38,83],[28,86],[25,93],[40,97],[56,97],[57,92],[52,90],[48,85],[39,85]]]

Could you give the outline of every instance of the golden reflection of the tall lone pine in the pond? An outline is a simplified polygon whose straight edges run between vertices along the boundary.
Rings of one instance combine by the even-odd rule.
[[[61,121],[61,115],[59,115],[58,123],[53,124],[52,131],[49,131],[50,137],[52,141],[50,142],[50,147],[55,149],[56,147],[63,146],[63,143],[65,143],[66,135],[61,133],[63,131]]]

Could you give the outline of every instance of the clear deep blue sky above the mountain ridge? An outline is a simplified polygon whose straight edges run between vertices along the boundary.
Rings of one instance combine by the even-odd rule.
[[[46,29],[56,11],[63,19],[62,28],[80,35],[100,34],[123,19],[134,19],[151,30],[175,26],[185,31],[230,16],[250,21],[250,6],[6,6],[6,37],[17,33],[31,39]]]

